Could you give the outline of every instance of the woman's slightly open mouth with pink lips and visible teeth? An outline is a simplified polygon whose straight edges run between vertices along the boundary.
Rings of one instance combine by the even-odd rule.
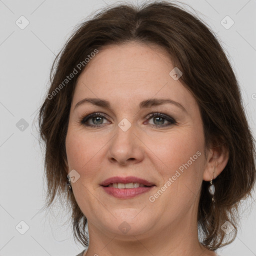
[[[122,199],[148,192],[155,186],[147,180],[133,176],[111,177],[104,180],[100,185],[108,195]]]

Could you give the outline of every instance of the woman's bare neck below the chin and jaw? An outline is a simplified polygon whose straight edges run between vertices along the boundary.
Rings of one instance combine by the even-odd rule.
[[[193,211],[192,207],[185,216],[170,225],[158,225],[154,230],[130,236],[102,231],[88,222],[90,241],[86,256],[215,256],[198,241],[197,220],[196,214],[191,214]],[[191,215],[195,216],[194,219]]]

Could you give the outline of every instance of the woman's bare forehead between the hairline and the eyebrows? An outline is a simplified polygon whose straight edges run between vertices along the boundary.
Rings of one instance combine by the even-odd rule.
[[[188,107],[195,100],[179,80],[169,75],[173,68],[168,53],[159,46],[136,42],[108,45],[90,59],[79,75],[73,101],[88,96],[134,104],[161,97],[179,100]]]

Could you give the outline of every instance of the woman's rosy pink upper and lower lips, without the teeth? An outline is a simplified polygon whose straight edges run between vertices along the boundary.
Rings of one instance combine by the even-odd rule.
[[[115,188],[112,186],[107,186],[112,183],[131,183],[131,182],[138,182],[140,184],[146,185],[146,186],[140,186],[140,187],[135,187],[135,188]],[[149,190],[152,189],[155,185],[150,183],[149,181],[138,178],[135,176],[128,176],[128,177],[110,177],[105,179],[101,184],[102,188],[104,191],[116,198],[122,198],[122,199],[127,199],[127,198],[132,198],[136,195],[148,192]]]

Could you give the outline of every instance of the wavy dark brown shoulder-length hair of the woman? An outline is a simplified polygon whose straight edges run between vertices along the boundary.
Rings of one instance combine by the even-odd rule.
[[[180,81],[198,103],[206,146],[214,142],[224,143],[228,148],[228,162],[214,180],[215,206],[212,206],[206,181],[202,181],[198,206],[201,243],[215,250],[236,236],[238,203],[250,195],[255,179],[254,141],[235,74],[218,40],[197,17],[168,1],[145,2],[140,7],[130,4],[108,6],[81,23],[56,56],[48,96],[38,118],[40,136],[45,142],[46,205],[51,205],[56,196],[67,195],[74,236],[83,245],[88,245],[87,219],[73,194],[65,190],[65,136],[70,104],[76,80],[86,65],[77,70],[65,86],[60,86],[58,91],[56,88],[95,49],[100,52],[102,46],[128,41],[153,43],[167,50],[173,65],[183,72]],[[225,221],[235,227],[229,240],[221,230]]]

